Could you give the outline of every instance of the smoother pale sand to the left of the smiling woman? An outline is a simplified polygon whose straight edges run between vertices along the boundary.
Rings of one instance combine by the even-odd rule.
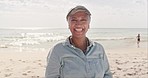
[[[0,52],[0,78],[44,78],[47,52]]]

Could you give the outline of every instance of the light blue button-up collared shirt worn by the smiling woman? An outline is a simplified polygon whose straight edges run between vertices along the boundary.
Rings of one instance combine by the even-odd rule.
[[[45,78],[112,78],[103,47],[89,41],[86,54],[70,44],[56,44],[47,56]]]

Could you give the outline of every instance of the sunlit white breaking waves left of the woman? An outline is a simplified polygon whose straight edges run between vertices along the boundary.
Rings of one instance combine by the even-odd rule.
[[[9,42],[10,46],[23,46],[23,45],[39,45],[41,43],[53,42],[65,39],[65,36],[53,33],[21,33],[5,36],[0,38],[0,41]]]

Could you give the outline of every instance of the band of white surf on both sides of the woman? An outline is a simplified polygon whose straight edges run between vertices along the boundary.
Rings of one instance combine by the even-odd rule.
[[[99,36],[100,35],[100,36]],[[47,42],[56,42],[65,40],[69,36],[69,33],[5,33],[0,35],[0,42],[5,42],[11,46],[24,46],[24,45],[39,45]],[[94,41],[109,41],[109,40],[134,40],[136,39],[133,35],[103,35],[103,34],[92,34],[88,38]],[[147,37],[144,38],[147,40]],[[5,47],[5,46],[1,46]]]

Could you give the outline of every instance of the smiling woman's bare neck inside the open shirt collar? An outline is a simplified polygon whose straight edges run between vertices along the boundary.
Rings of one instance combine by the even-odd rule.
[[[75,47],[81,49],[83,52],[86,51],[88,46],[88,39],[86,37],[82,37],[82,38],[71,37],[70,41],[71,41],[71,44],[74,45]]]

